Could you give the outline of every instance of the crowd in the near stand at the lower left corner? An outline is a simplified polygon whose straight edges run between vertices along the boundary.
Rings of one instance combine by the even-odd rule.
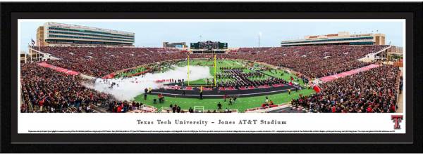
[[[109,112],[141,109],[142,103],[115,100],[112,95],[87,88],[80,76],[56,72],[35,63],[21,64],[20,79],[23,103],[20,112],[96,112],[106,107]]]

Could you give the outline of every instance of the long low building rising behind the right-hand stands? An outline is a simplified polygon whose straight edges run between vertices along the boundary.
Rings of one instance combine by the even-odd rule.
[[[324,34],[305,36],[304,39],[281,41],[281,46],[326,46],[326,45],[385,45],[385,34]]]

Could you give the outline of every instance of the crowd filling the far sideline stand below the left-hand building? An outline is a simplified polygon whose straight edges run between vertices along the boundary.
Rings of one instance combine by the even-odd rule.
[[[61,59],[49,60],[51,65],[94,77],[139,65],[186,58],[184,53],[159,53],[154,49],[159,48],[42,47],[41,51]]]

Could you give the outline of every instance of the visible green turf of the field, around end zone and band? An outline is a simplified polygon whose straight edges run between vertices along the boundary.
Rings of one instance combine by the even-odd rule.
[[[217,67],[216,67],[216,73],[219,73],[221,69],[219,67],[243,67],[245,65],[245,61],[237,61],[237,60],[216,60]],[[187,61],[178,62],[177,64],[180,67],[188,65]],[[214,75],[214,60],[190,60],[190,66],[191,65],[201,65],[201,66],[208,66],[210,67],[210,74]],[[257,66],[257,65],[256,65]],[[249,69],[245,69],[244,72],[252,72]],[[281,76],[281,73],[283,70],[277,70],[275,74],[271,72],[265,72],[266,74],[270,74],[271,76],[276,76],[278,78],[286,79],[287,81],[290,80],[290,76],[294,76],[293,74],[284,74]],[[266,76],[265,78],[267,78]],[[225,80],[225,79],[224,79]],[[228,81],[231,81],[231,79],[226,79]],[[302,81],[299,81],[300,85],[303,86],[304,83]],[[196,81],[190,81],[190,85],[192,84],[202,84],[205,85],[206,81],[205,79],[199,79]],[[264,103],[265,97],[269,97],[269,100],[272,100],[276,105],[277,104],[286,104],[287,102],[290,102],[293,98],[298,98],[300,94],[302,95],[310,95],[314,93],[314,90],[312,89],[305,89],[305,90],[299,90],[298,92],[291,92],[291,95],[288,95],[288,93],[279,93],[274,95],[262,95],[257,97],[240,97],[237,99],[237,101],[233,105],[228,105],[228,99],[226,102],[223,102],[223,99],[204,99],[199,100],[197,98],[183,98],[183,97],[165,97],[166,102],[163,104],[153,104],[153,99],[158,98],[157,95],[147,95],[147,100],[144,100],[144,95],[138,95],[135,97],[135,101],[145,103],[146,105],[152,105],[154,107],[157,107],[160,109],[161,107],[169,107],[169,105],[179,105],[182,109],[189,109],[190,107],[194,108],[194,106],[204,106],[204,109],[216,109],[217,103],[221,102],[223,105],[223,109],[238,109],[238,112],[245,112],[245,109],[250,109],[254,107],[260,107]]]

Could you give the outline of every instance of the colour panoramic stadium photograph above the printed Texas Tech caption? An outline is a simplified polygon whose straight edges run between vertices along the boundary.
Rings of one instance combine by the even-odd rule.
[[[23,20],[20,113],[403,113],[390,20]]]

